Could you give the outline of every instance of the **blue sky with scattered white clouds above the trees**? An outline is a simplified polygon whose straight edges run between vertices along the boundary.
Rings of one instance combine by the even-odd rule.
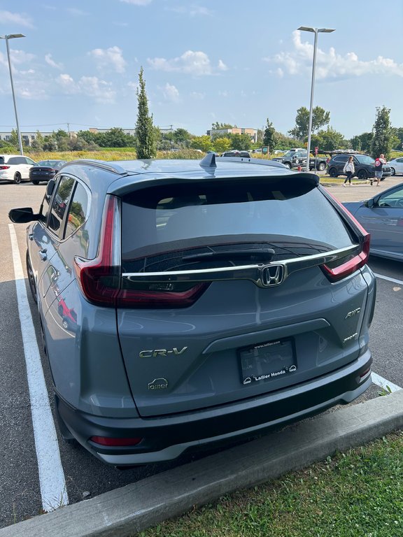
[[[154,124],[206,134],[214,122],[287,134],[297,109],[330,112],[346,138],[376,107],[403,127],[403,0],[0,0],[20,130],[133,128],[141,66]],[[0,40],[0,130],[15,128]]]

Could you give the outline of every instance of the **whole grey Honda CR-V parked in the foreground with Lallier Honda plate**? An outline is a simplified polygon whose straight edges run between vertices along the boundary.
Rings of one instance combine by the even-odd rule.
[[[313,173],[69,162],[27,229],[59,427],[117,466],[250,437],[371,385],[369,234]]]

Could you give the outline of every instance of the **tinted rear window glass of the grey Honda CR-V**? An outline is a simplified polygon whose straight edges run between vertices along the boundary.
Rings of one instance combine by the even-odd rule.
[[[322,192],[299,176],[164,185],[122,199],[124,272],[184,270],[189,268],[186,258],[190,255],[195,264],[198,254],[206,267],[223,266],[222,259],[232,251],[236,255],[228,255],[228,265],[245,264],[241,250],[264,248],[274,250],[272,260],[279,261],[353,242]],[[206,259],[208,252],[214,254],[211,260]]]

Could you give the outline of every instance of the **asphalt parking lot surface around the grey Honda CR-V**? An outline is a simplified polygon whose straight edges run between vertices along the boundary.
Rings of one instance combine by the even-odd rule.
[[[327,179],[322,182],[326,184]],[[369,183],[353,183],[352,187],[328,186],[330,192],[340,201],[360,201],[374,196],[376,192],[403,182],[402,177],[388,178],[381,187],[371,187]],[[27,309],[18,314],[17,288],[15,275],[15,255],[10,246],[10,229],[15,232],[17,251],[24,264],[25,226],[10,224],[8,210],[17,206],[31,205],[37,208],[43,196],[44,187],[30,184],[0,185],[0,245],[3,255],[0,258],[0,299],[3,315],[0,317],[0,359],[3,375],[0,378],[0,527],[9,527],[27,517],[34,517],[43,509],[42,485],[38,471],[38,452],[34,442],[32,425],[32,405],[29,399],[25,356],[27,345],[21,331],[20,316],[30,316],[33,322],[39,358],[43,367],[45,385],[51,395],[50,372],[41,348],[41,332],[35,305],[28,294]],[[10,227],[11,226],[11,227]],[[374,357],[373,369],[379,378],[389,385],[403,387],[403,354],[401,341],[401,322],[403,313],[403,273],[402,264],[384,259],[370,258],[371,266],[377,276],[378,297],[374,322],[371,327],[371,348]],[[23,268],[24,271],[24,268]],[[24,271],[22,278],[26,278]],[[35,338],[35,337],[34,337]],[[379,396],[381,387],[374,384],[362,400]],[[357,401],[360,402],[360,401]],[[39,406],[41,406],[41,401]],[[52,410],[52,398],[50,408]],[[57,431],[56,443],[60,464],[64,475],[63,490],[55,490],[55,506],[65,499],[69,503],[79,503],[84,499],[95,498],[99,494],[118,490],[157,475],[171,468],[195,460],[181,457],[169,464],[148,465],[117,471],[105,466],[80,448],[63,443]],[[47,457],[47,454],[43,454]],[[45,459],[49,460],[49,459]],[[66,492],[66,494],[64,494]],[[1,530],[0,530],[1,531]]]

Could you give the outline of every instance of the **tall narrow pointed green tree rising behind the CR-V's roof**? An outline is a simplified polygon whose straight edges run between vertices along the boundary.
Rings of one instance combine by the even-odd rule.
[[[153,115],[148,113],[148,98],[146,94],[146,81],[143,76],[143,67],[139,73],[139,88],[136,92],[138,113],[136,122],[136,152],[138,159],[153,159],[157,155],[155,143],[155,130],[153,128]]]

